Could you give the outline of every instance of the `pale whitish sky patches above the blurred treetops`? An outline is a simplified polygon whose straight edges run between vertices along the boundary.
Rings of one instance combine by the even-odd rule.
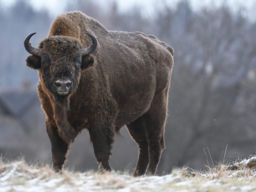
[[[2,6],[10,6],[18,0],[0,0]],[[35,10],[47,9],[55,17],[65,11],[66,4],[72,0],[28,0]],[[107,5],[111,0],[95,0],[101,5]],[[167,2],[170,6],[176,6],[180,0],[116,0],[120,11],[127,11],[134,5],[142,7],[144,16],[154,13],[155,6],[161,6],[161,1]],[[238,7],[244,7],[243,14],[251,18],[256,17],[256,0],[189,0],[193,10],[199,10],[204,6],[219,6],[223,3],[236,11]]]

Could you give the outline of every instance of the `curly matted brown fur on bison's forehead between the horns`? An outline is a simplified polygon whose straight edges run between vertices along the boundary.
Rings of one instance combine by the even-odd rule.
[[[51,36],[40,42],[39,48],[53,54],[74,54],[80,49],[80,41],[74,37]]]

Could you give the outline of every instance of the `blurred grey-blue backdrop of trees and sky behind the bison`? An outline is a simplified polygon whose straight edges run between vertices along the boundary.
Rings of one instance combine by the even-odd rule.
[[[158,173],[173,167],[242,159],[256,149],[255,0],[0,0],[0,153],[51,164],[45,115],[36,92],[37,71],[26,67],[25,37],[34,47],[54,18],[80,10],[108,30],[154,34],[175,49]],[[138,148],[126,128],[116,136],[114,170],[133,171]],[[210,159],[212,158],[212,160]],[[84,130],[65,167],[97,170]]]

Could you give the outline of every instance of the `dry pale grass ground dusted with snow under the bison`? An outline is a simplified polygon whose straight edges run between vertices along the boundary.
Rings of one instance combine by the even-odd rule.
[[[219,164],[196,171],[184,167],[163,176],[133,177],[115,172],[54,173],[49,166],[28,165],[24,160],[0,160],[0,192],[2,191],[255,191],[256,157],[233,164]]]

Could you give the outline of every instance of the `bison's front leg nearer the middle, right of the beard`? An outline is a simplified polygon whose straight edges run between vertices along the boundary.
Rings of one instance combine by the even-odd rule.
[[[109,157],[114,141],[113,129],[110,127],[97,127],[89,129],[89,133],[100,171],[111,171]]]

